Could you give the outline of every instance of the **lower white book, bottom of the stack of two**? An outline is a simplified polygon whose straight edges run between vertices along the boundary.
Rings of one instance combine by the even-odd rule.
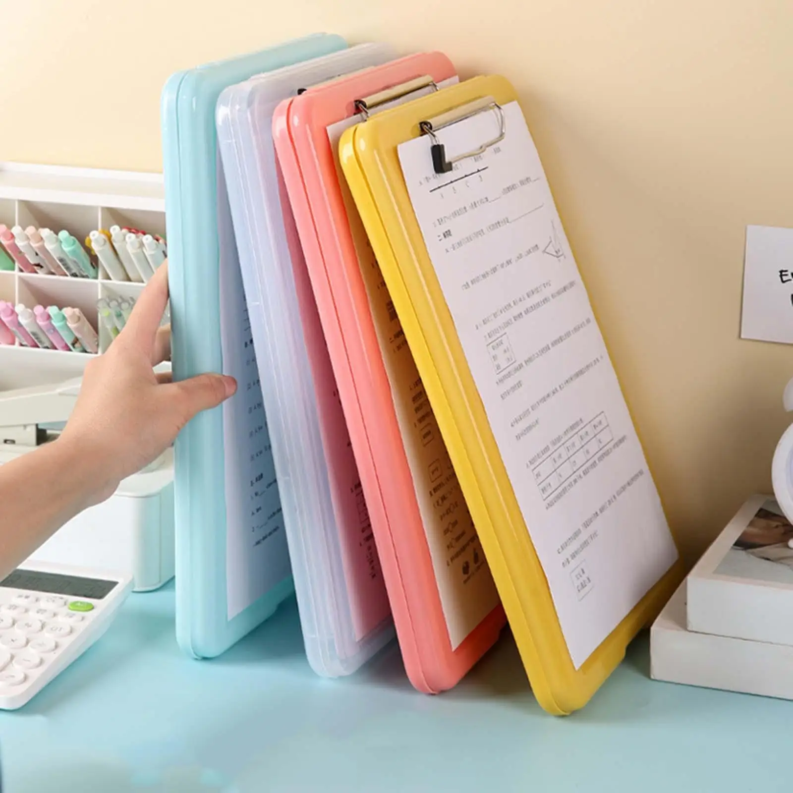
[[[793,699],[793,647],[686,630],[686,584],[650,630],[653,680]]]

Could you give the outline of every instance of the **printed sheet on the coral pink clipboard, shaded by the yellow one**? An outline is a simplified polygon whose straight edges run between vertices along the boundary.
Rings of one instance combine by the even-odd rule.
[[[456,77],[442,82],[439,87],[455,82],[458,82]],[[373,110],[372,114],[408,102],[430,90],[408,94]],[[362,118],[354,116],[331,125],[328,127],[328,138],[335,156],[339,186],[369,297],[377,340],[391,385],[446,630],[451,647],[456,650],[498,606],[499,596],[435,414],[424,392],[416,362],[404,338],[388,287],[341,170],[339,140],[345,129],[359,121]]]

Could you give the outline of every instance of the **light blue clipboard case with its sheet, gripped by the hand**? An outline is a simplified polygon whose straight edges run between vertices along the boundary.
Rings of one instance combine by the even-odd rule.
[[[239,383],[235,397],[185,427],[174,450],[176,634],[193,657],[223,653],[293,592],[261,390],[246,374],[257,364],[218,178],[215,105],[236,82],[344,48],[340,36],[316,34],[178,72],[163,88],[174,380],[224,372]],[[255,436],[239,443],[234,428],[249,425]]]

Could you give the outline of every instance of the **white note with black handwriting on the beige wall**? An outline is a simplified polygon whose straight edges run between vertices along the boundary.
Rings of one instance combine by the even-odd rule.
[[[793,228],[746,227],[741,339],[793,344]]]

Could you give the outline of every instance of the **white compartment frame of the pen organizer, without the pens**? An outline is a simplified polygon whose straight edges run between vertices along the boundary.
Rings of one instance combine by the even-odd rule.
[[[63,228],[84,243],[94,229],[113,225],[165,236],[162,174],[0,163],[0,223]],[[111,337],[98,323],[97,301],[137,298],[143,284],[99,277],[67,278],[0,270],[0,300],[13,305],[79,308],[99,333],[100,354]],[[0,391],[80,377],[90,354],[0,345]]]

